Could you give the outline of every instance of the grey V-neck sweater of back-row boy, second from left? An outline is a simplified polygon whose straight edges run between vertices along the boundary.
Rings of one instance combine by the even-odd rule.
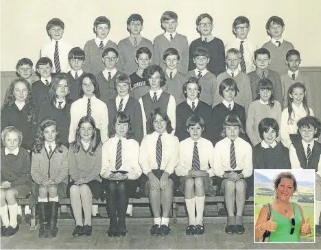
[[[112,42],[111,40],[108,40],[104,49],[109,47],[118,50],[116,43]],[[97,75],[99,72],[104,71],[105,66],[102,62],[102,53],[104,49],[99,49],[99,47],[96,45],[95,39],[88,40],[84,46],[86,60],[84,61],[84,67],[82,70],[86,73],[92,73],[93,75]],[[117,63],[117,68],[121,68],[119,62]]]

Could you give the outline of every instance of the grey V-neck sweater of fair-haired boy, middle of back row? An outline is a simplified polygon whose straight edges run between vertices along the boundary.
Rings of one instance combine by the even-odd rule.
[[[180,60],[177,65],[178,71],[183,74],[187,73],[189,67],[189,42],[187,37],[181,34],[176,33],[173,40],[169,41],[164,34],[156,36],[154,40],[154,64],[159,65],[163,68],[163,71],[166,70],[166,65],[163,62],[163,55],[166,49],[174,48],[177,49],[180,54]]]

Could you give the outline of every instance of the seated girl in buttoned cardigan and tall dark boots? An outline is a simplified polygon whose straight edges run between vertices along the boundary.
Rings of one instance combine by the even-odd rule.
[[[31,175],[35,182],[32,193],[38,201],[38,236],[55,238],[59,198],[66,197],[68,182],[68,149],[60,142],[56,121],[45,119],[40,123],[32,151]]]

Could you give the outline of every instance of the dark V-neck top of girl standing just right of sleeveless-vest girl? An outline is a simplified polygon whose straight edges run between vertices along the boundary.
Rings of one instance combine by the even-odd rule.
[[[186,129],[187,119],[196,114],[203,118],[205,127],[202,132],[202,138],[211,140],[212,137],[212,122],[211,122],[211,106],[204,103],[204,101],[198,101],[195,112],[191,110],[191,106],[187,104],[187,101],[184,101],[177,105],[176,107],[176,129],[175,136],[178,137],[178,140],[181,142],[190,137],[189,132]]]

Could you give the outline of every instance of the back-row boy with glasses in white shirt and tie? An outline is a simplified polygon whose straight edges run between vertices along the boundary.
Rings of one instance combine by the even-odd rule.
[[[238,16],[233,22],[232,29],[235,40],[228,42],[225,45],[225,51],[228,51],[228,49],[231,48],[239,50],[241,53],[239,71],[246,74],[255,71],[254,51],[257,50],[257,45],[253,45],[252,42],[248,40],[250,21],[245,16]]]

